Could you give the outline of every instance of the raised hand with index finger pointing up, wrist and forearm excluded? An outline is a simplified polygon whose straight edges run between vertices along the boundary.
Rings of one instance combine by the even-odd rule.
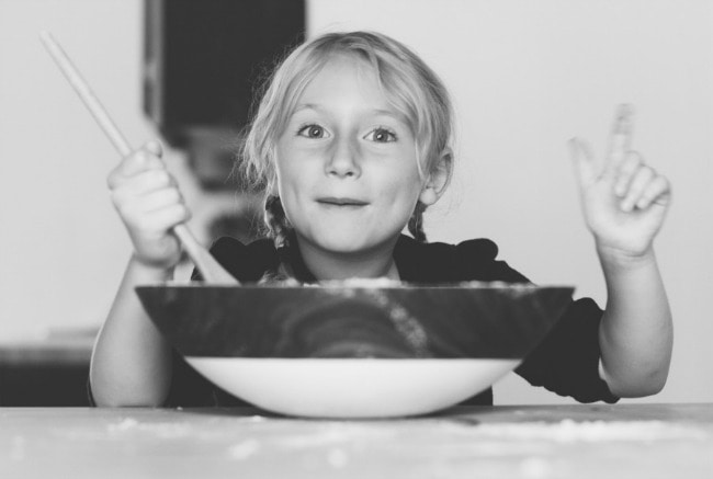
[[[598,251],[614,260],[652,252],[670,204],[670,185],[631,149],[633,111],[621,105],[614,118],[609,153],[597,161],[581,140],[569,141],[581,205]]]

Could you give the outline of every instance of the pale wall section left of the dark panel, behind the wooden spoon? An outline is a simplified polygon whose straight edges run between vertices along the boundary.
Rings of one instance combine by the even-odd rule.
[[[38,33],[138,146],[156,135],[142,111],[143,12],[142,0],[0,0],[0,340],[95,328],[109,310],[131,253],[106,189],[118,157]],[[167,162],[200,213],[185,158]]]

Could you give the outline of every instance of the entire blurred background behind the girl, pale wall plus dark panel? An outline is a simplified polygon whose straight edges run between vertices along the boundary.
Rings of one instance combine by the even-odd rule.
[[[205,243],[248,239],[260,215],[229,173],[274,55],[328,31],[392,35],[456,105],[455,179],[427,213],[429,239],[491,238],[535,283],[575,285],[601,306],[566,141],[601,155],[615,105],[634,104],[634,147],[674,185],[656,249],[676,343],[665,390],[623,402],[713,401],[711,26],[706,0],[0,0],[0,404],[82,403],[91,342],[131,253],[106,190],[116,152],[44,52],[43,30],[131,142],[163,142]],[[573,401],[510,375],[495,402]]]

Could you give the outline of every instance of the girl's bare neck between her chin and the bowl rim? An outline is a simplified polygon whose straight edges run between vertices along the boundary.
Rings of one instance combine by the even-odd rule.
[[[399,280],[394,262],[395,238],[386,244],[369,251],[335,253],[325,251],[308,241],[297,238],[297,247],[307,269],[319,281],[340,281],[353,277],[388,277]]]

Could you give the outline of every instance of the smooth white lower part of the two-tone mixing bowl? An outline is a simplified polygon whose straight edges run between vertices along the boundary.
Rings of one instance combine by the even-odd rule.
[[[186,357],[228,392],[273,412],[393,418],[454,406],[490,387],[518,360]]]

